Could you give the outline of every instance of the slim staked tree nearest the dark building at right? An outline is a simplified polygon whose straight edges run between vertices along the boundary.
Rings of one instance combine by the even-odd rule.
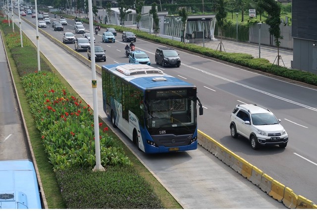
[[[269,25],[268,32],[274,37],[274,42],[277,46],[277,65],[279,65],[279,40],[283,39],[280,29],[281,4],[275,0],[260,0],[259,7],[263,8],[268,14],[268,18],[265,20],[265,23]]]

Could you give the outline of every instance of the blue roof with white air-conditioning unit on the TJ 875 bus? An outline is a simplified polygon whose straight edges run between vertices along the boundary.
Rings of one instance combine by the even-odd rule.
[[[158,86],[193,86],[173,76],[163,73],[163,71],[145,64],[110,64],[104,65],[103,69],[117,75],[123,80],[143,89],[151,89]]]

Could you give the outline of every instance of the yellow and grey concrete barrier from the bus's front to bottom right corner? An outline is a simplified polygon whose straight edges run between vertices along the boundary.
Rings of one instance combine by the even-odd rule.
[[[258,186],[267,195],[283,203],[289,209],[317,209],[317,205],[253,166],[229,149],[218,143],[209,135],[198,130],[198,144],[211,152],[216,158],[234,169],[254,185]]]

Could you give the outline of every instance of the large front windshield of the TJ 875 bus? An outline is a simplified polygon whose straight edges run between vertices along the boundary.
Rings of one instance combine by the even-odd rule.
[[[194,98],[153,99],[148,102],[147,127],[196,126],[196,103]]]

